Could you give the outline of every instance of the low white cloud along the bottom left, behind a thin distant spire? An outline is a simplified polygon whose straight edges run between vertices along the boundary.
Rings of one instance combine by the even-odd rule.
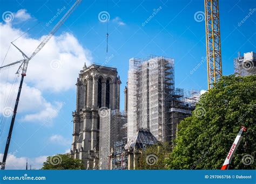
[[[32,169],[40,169],[43,166],[43,162],[46,161],[47,156],[40,156],[36,158],[16,157],[13,154],[8,154],[6,159],[5,169],[25,169],[26,159],[28,159],[28,169],[30,165]],[[0,160],[3,159],[3,154],[0,153]]]

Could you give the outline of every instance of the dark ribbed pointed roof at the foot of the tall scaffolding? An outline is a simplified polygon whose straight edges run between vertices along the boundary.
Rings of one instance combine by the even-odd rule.
[[[161,144],[148,130],[142,129],[125,145],[125,150],[144,149],[148,145]]]

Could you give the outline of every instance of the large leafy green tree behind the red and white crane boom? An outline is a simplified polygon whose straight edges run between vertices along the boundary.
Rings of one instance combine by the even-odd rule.
[[[168,168],[220,169],[241,125],[244,125],[248,129],[230,169],[255,169],[255,162],[252,163],[256,153],[255,88],[255,75],[230,75],[223,76],[215,88],[202,95],[192,116],[178,126],[176,146],[166,160]]]

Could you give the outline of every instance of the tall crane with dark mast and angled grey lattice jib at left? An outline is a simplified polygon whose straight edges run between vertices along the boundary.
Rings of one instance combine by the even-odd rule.
[[[41,42],[41,44],[38,45],[38,47],[35,49],[35,51],[34,51],[30,56],[27,56],[24,52],[22,52],[21,49],[19,49],[16,45],[14,45],[14,43],[11,43],[12,45],[14,45],[14,46],[19,50],[19,52],[22,53],[24,59],[23,59],[23,60],[16,61],[16,62],[13,62],[13,63],[10,63],[9,65],[5,65],[5,66],[3,66],[3,67],[0,68],[0,69],[8,68],[8,67],[17,65],[18,63],[21,63],[21,66],[19,66],[17,73],[19,72],[20,69],[22,70],[21,82],[19,83],[18,94],[17,94],[16,103],[15,103],[15,107],[14,107],[14,113],[12,114],[12,118],[11,118],[11,124],[10,124],[10,129],[9,129],[9,133],[8,133],[6,145],[5,145],[3,161],[2,161],[2,163],[1,163],[1,165],[2,165],[1,169],[4,169],[4,168],[5,168],[5,162],[6,162],[6,158],[7,158],[7,154],[8,154],[8,150],[9,150],[9,145],[10,145],[10,141],[11,141],[12,129],[14,128],[15,117],[16,117],[16,114],[17,114],[17,108],[18,108],[18,103],[19,103],[19,96],[21,96],[22,84],[23,84],[24,76],[26,76],[26,70],[28,69],[29,61],[30,61],[39,51],[41,51],[41,49],[45,46],[46,43],[48,43],[48,41],[51,39],[51,37],[53,36],[53,34],[55,34],[56,31],[59,29],[59,27],[64,24],[65,20],[66,20],[66,19],[71,15],[71,13],[77,8],[77,6],[80,4],[80,2],[82,2],[82,0],[76,0],[76,2],[75,2],[75,3],[71,6],[71,8],[65,13],[65,15],[59,20],[59,22],[53,27],[53,29],[49,32],[49,34],[44,38],[44,40]]]

